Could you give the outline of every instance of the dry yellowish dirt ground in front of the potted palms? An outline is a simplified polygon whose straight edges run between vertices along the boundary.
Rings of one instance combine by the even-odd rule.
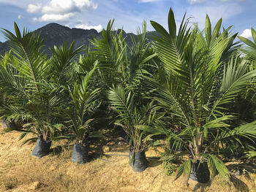
[[[218,176],[208,184],[189,180],[187,187],[183,178],[173,181],[174,176],[167,176],[162,162],[154,158],[148,158],[144,172],[133,172],[128,147],[118,139],[105,140],[108,155],[99,155],[100,145],[95,142],[90,147],[97,153],[91,153],[89,163],[79,165],[71,162],[72,145],[53,142],[50,154],[37,159],[31,155],[35,143],[21,146],[19,136],[0,134],[0,191],[256,191],[256,174],[233,177],[236,187]],[[146,152],[147,157],[157,155],[153,149]]]

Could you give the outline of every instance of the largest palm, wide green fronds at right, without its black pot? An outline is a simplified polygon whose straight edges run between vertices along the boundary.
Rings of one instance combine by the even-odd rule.
[[[219,172],[228,179],[230,174],[217,157],[218,152],[222,147],[232,151],[235,141],[245,147],[240,137],[256,137],[256,122],[236,128],[230,125],[234,116],[228,114],[228,107],[238,93],[246,91],[256,74],[248,72],[249,62],[236,55],[230,28],[220,31],[222,19],[213,31],[208,15],[204,31],[197,26],[188,28],[188,23],[184,15],[176,34],[172,9],[168,15],[169,31],[151,21],[157,31],[152,39],[159,58],[158,76],[145,78],[155,90],[154,100],[165,111],[166,125],[156,123],[154,127],[141,128],[165,134],[173,150],[182,145],[189,152],[191,158],[178,168],[177,178],[189,175],[193,163],[207,161],[212,176]]]

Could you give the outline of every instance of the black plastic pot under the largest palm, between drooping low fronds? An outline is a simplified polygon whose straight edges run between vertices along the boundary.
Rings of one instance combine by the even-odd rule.
[[[199,183],[208,183],[210,180],[210,172],[207,162],[201,162],[200,166],[198,167],[199,162],[200,161],[197,160],[195,164],[192,164],[189,179],[195,180]]]

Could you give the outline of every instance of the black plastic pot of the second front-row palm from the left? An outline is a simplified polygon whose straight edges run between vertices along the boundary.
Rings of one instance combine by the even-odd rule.
[[[75,144],[72,151],[72,162],[85,164],[89,161],[89,146]]]

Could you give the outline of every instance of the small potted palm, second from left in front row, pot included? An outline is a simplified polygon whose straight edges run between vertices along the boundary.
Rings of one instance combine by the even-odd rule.
[[[67,126],[72,129],[73,134],[66,135],[62,138],[76,139],[76,143],[72,153],[72,161],[78,164],[88,161],[89,137],[102,137],[101,134],[94,132],[91,128],[91,122],[94,120],[91,114],[99,107],[99,88],[89,87],[89,81],[94,71],[97,69],[97,61],[94,63],[94,68],[83,77],[83,80],[77,80],[75,84],[67,85],[69,91],[68,107],[64,109],[64,115],[67,115]]]

